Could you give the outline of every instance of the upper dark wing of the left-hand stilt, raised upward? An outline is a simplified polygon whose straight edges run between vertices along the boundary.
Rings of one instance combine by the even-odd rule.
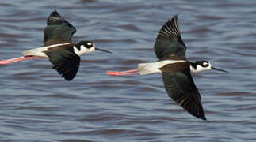
[[[47,27],[44,29],[44,45],[71,42],[75,32],[75,27],[65,21],[55,9],[48,17]]]

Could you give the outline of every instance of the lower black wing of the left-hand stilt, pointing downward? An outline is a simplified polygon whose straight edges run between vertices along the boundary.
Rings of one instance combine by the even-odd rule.
[[[45,52],[52,62],[53,69],[56,69],[65,80],[72,80],[78,73],[80,57],[72,50],[49,50]]]

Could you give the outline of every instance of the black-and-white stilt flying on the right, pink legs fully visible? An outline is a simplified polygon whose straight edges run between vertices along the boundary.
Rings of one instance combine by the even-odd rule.
[[[155,39],[154,50],[157,62],[141,63],[137,69],[123,72],[108,71],[108,75],[122,76],[130,74],[162,73],[167,94],[181,107],[197,118],[207,120],[201,103],[201,95],[193,82],[192,75],[204,70],[222,69],[212,67],[208,61],[189,62],[185,57],[186,46],[178,28],[178,16],[175,15],[160,29]]]

